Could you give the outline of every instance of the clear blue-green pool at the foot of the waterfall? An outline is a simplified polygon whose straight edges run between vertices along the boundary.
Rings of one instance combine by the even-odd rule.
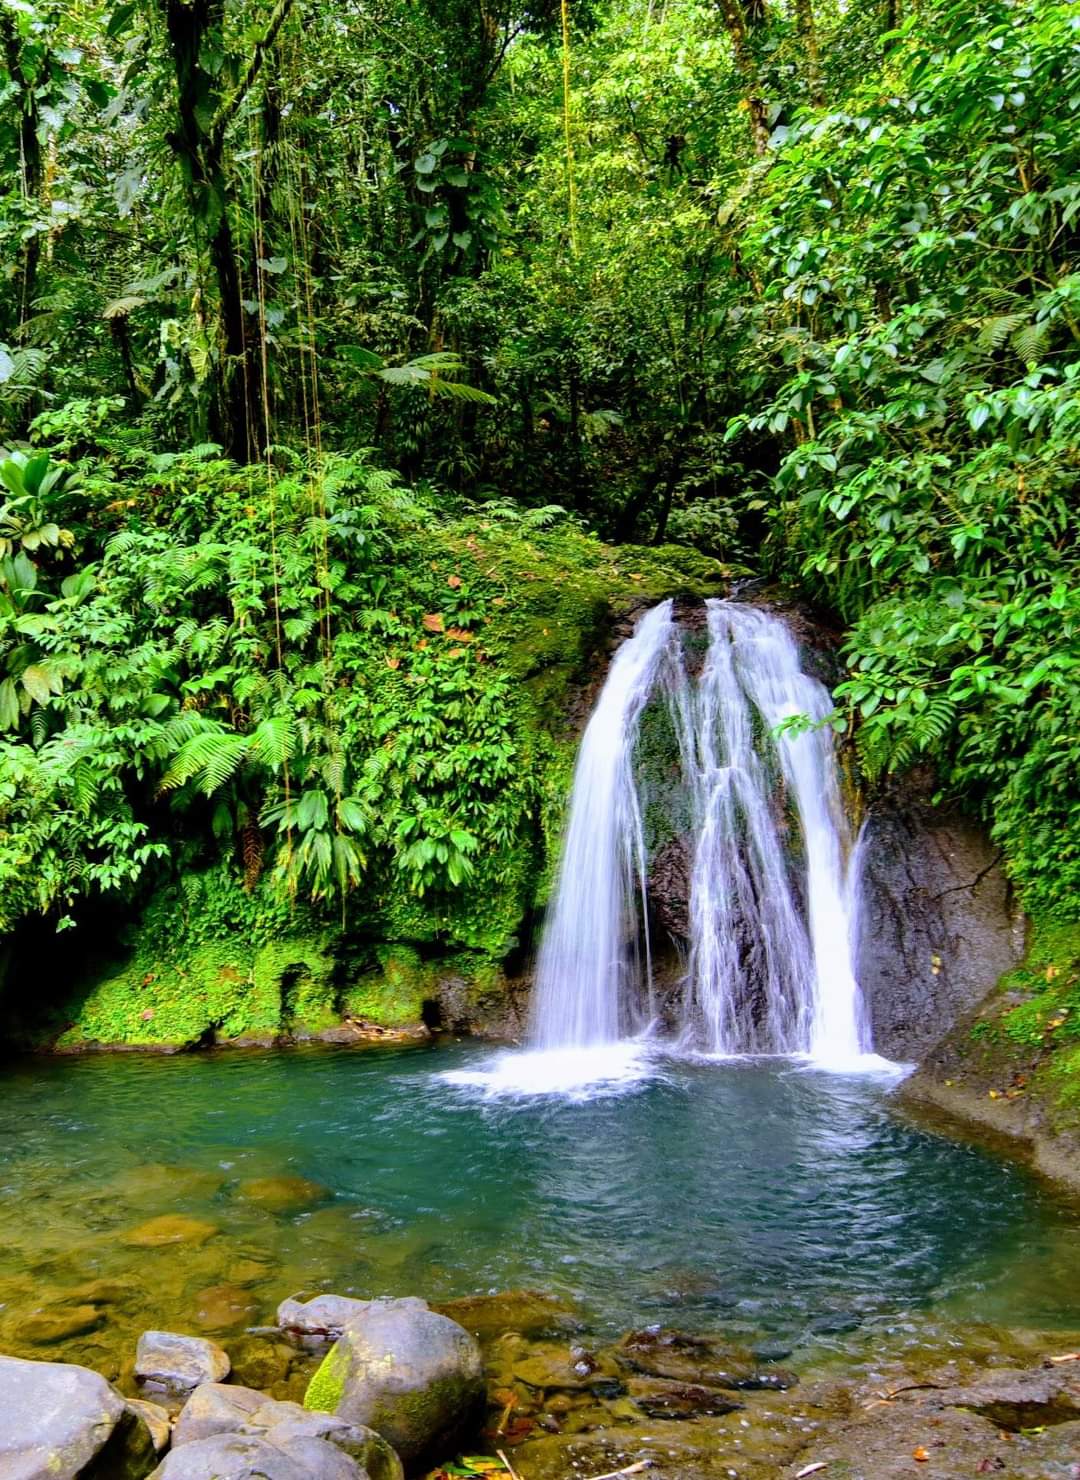
[[[240,1323],[297,1289],[531,1286],[604,1333],[1080,1328],[1080,1214],[904,1123],[873,1076],[660,1060],[516,1095],[490,1067],[450,1045],[4,1069],[0,1350],[93,1362],[198,1329],[222,1291]],[[323,1191],[268,1193],[283,1175]],[[145,1233],[163,1217],[176,1240]]]

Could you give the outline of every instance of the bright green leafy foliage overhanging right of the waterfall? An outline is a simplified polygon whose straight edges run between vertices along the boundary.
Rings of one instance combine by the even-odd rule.
[[[740,219],[765,394],[729,437],[778,443],[777,567],[854,620],[867,773],[932,761],[1076,918],[1077,16],[932,7],[885,75],[786,127]]]

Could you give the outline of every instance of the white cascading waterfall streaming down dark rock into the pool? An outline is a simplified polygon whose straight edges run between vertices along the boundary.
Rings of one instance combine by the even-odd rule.
[[[647,838],[635,752],[664,706],[689,854],[689,944],[678,1048],[849,1063],[870,1051],[854,971],[843,814],[828,691],[784,622],[709,601],[691,678],[672,602],[615,653],[581,740],[533,1003],[536,1048],[596,1048],[655,1015]],[[786,721],[793,721],[786,724]]]

